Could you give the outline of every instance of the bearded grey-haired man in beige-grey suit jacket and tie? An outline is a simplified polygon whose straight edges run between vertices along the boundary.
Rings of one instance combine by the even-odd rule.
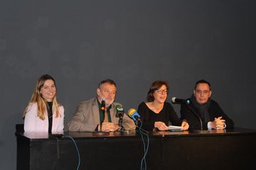
[[[76,109],[73,117],[68,123],[69,131],[99,131],[114,132],[119,129],[119,118],[117,118],[116,106],[122,106],[115,103],[114,98],[117,93],[117,86],[111,79],[100,82],[97,88],[97,98],[91,98],[89,101],[82,101]],[[102,113],[102,101],[105,101],[105,112]],[[125,130],[135,129],[134,120],[124,114],[122,127]]]

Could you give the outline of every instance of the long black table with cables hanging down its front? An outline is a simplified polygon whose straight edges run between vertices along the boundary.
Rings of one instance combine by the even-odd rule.
[[[139,132],[16,132],[17,169],[140,169],[144,145]],[[144,138],[146,140],[146,138]],[[149,132],[147,169],[255,169],[256,130],[188,130]]]

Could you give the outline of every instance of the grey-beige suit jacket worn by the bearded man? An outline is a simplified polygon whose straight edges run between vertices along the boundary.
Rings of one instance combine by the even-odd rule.
[[[119,118],[115,116],[117,112],[115,106],[117,105],[122,106],[120,103],[112,103],[112,107],[110,109],[111,122],[114,124],[118,124],[119,120]],[[100,111],[97,98],[91,98],[89,101],[83,101],[78,105],[78,108],[68,123],[68,130],[92,132],[95,131],[95,128],[99,124]],[[136,128],[134,120],[129,118],[126,114],[124,114],[122,126],[126,130],[132,130]]]

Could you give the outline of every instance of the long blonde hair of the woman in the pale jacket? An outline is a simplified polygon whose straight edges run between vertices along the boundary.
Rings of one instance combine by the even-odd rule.
[[[31,105],[33,103],[37,103],[37,107],[38,107],[38,117],[41,118],[41,120],[45,120],[45,114],[47,111],[46,108],[46,100],[43,98],[42,94],[40,93],[41,88],[43,87],[43,85],[45,84],[46,80],[51,79],[53,80],[54,84],[55,84],[55,80],[53,79],[53,77],[51,77],[48,74],[43,74],[37,81],[36,83],[36,88],[33,91],[33,94],[31,96],[31,100],[28,103],[28,106],[26,107],[25,111],[23,112],[23,118],[25,118],[26,113],[28,113],[29,109],[31,108]],[[56,118],[60,115],[60,111],[59,111],[59,106],[60,103],[57,102],[57,87],[55,84],[55,88],[56,88],[56,93],[55,96],[53,97],[53,113],[56,113]]]

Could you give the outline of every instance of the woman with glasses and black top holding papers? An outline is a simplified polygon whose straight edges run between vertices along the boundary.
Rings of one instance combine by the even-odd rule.
[[[181,120],[171,106],[166,102],[169,93],[169,86],[166,81],[154,81],[147,94],[147,102],[139,104],[138,113],[141,115],[142,128],[144,130],[169,130],[171,125],[181,126],[183,130],[188,130],[186,120]]]

